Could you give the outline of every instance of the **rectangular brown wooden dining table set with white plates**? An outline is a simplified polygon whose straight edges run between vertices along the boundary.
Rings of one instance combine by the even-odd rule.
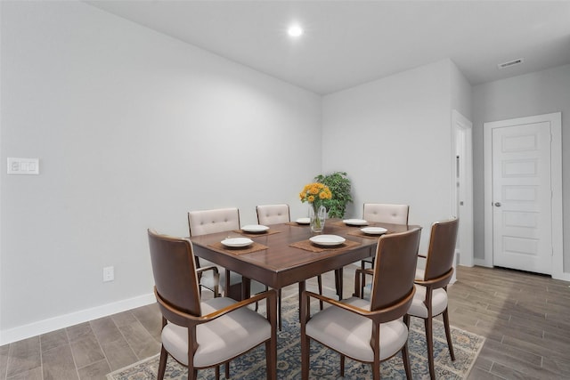
[[[383,227],[387,233],[403,232],[417,226],[371,222],[369,226]],[[216,263],[229,271],[240,273],[240,291],[230,296],[244,299],[249,296],[250,280],[281,289],[299,284],[299,295],[305,289],[305,280],[327,271],[335,271],[339,298],[342,298],[344,266],[376,255],[379,235],[362,232],[362,226],[348,225],[339,219],[329,219],[321,235],[338,235],[345,243],[335,247],[314,245],[309,239],[317,234],[308,224],[286,222],[268,226],[269,230],[250,233],[228,230],[191,237],[194,255]],[[247,237],[253,240],[248,247],[225,247],[227,238]],[[300,298],[299,298],[300,299]]]

